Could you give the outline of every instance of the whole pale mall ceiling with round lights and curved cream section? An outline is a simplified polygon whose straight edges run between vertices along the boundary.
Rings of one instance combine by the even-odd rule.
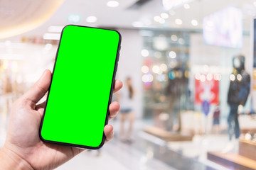
[[[0,38],[36,28],[47,20],[54,10],[55,13],[48,21],[23,35],[43,35],[48,32],[50,26],[65,26],[69,23],[111,28],[134,28],[135,26],[201,29],[204,16],[228,6],[242,10],[244,30],[250,30],[250,23],[256,15],[255,0],[190,0],[187,3],[188,6],[182,4],[168,11],[164,9],[160,0],[117,0],[119,6],[115,8],[107,6],[109,0],[65,0],[60,5],[62,1],[23,0],[21,3],[18,0],[1,0]],[[163,12],[168,13],[169,18],[166,18],[162,24],[154,21],[154,16],[161,16]],[[78,17],[75,22],[70,21],[72,16]],[[95,16],[97,21],[88,22],[88,16]],[[177,18],[181,19],[182,24],[176,24]],[[198,24],[193,26],[192,20],[198,21]]]

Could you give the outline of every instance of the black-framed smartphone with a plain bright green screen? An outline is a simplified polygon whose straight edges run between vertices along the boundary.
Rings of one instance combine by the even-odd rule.
[[[63,28],[41,121],[41,140],[88,149],[102,147],[120,44],[117,30]]]

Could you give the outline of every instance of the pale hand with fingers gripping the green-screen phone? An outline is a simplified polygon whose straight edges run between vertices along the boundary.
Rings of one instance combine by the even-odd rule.
[[[85,150],[49,144],[39,138],[45,102],[37,103],[48,91],[50,79],[51,72],[46,70],[12,106],[6,142],[0,150],[0,169],[55,169]],[[114,93],[121,88],[122,82],[116,80]],[[117,115],[119,107],[117,102],[110,104],[110,119]],[[114,136],[112,125],[106,125],[104,133],[105,142],[110,141]]]

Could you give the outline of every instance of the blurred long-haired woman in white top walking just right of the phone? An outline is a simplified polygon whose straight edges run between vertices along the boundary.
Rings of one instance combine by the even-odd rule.
[[[134,88],[132,87],[132,79],[127,77],[124,88],[118,96],[120,103],[120,113],[121,113],[121,140],[124,142],[132,142],[132,130],[134,123],[134,112],[132,108],[132,99],[134,97]],[[129,128],[127,132],[124,130],[125,120],[129,120]]]

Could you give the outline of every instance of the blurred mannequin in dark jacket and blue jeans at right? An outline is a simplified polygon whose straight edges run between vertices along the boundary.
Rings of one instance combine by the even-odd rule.
[[[230,87],[228,90],[228,104],[230,113],[228,115],[228,135],[229,140],[235,133],[235,139],[240,136],[238,122],[238,106],[245,106],[250,93],[250,75],[245,71],[245,56],[238,55],[233,58],[233,73],[230,74]],[[233,149],[234,144],[230,144],[225,149],[226,152]]]

